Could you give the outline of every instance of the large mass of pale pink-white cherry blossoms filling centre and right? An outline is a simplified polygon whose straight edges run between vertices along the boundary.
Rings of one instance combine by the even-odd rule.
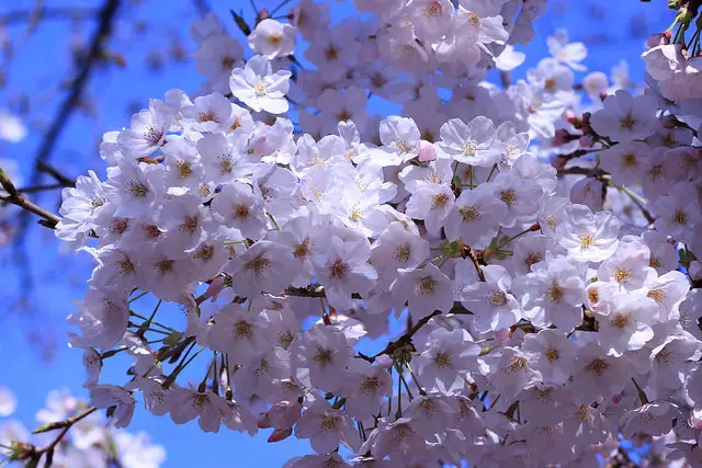
[[[499,89],[487,68],[520,61],[544,2],[458,3],[358,0],[382,27],[327,27],[301,1],[259,18],[246,62],[193,25],[203,91],[151,100],[105,134],[106,178],[64,191],[57,236],[95,260],[70,343],[116,426],[139,397],[309,440],[291,468],[592,466],[620,437],[702,460],[702,115],[664,91],[697,75],[649,44],[643,94],[625,66],[575,85],[586,49],[561,31]],[[406,331],[366,353],[392,317]],[[128,381],[102,381],[122,352]]]

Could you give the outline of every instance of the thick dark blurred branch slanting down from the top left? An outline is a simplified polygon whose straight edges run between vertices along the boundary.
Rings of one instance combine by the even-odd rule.
[[[90,52],[86,57],[82,67],[76,75],[70,87],[70,91],[66,96],[64,103],[56,117],[54,118],[48,132],[44,136],[42,145],[37,151],[36,168],[32,173],[30,185],[38,185],[42,179],[41,164],[46,164],[52,158],[54,146],[58,140],[58,137],[63,133],[70,115],[73,110],[80,104],[81,96],[84,88],[88,84],[90,73],[100,58],[103,56],[103,47],[110,34],[112,33],[112,23],[116,16],[117,8],[120,7],[120,0],[105,0],[100,9],[100,24],[98,25],[92,39],[90,42]],[[24,231],[29,226],[29,216],[25,214],[20,217],[20,228],[18,239],[24,239]]]

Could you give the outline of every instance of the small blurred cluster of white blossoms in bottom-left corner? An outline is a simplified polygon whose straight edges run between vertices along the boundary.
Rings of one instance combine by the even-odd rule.
[[[14,413],[16,399],[0,386],[0,461],[33,463],[34,466],[157,468],[166,459],[162,446],[154,444],[144,432],[136,434],[116,430],[98,412],[90,412],[70,427],[52,450],[33,459],[36,446],[49,444],[53,432],[43,431],[68,418],[79,416],[89,408],[83,400],[72,397],[67,390],[54,390],[46,399],[46,408],[36,413],[42,424],[39,433],[32,435],[16,420],[5,419]],[[37,431],[35,431],[36,433]],[[13,465],[10,465],[13,466]]]

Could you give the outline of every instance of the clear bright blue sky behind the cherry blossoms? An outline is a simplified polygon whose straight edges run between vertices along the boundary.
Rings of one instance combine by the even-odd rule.
[[[10,2],[2,3],[0,15],[10,11]],[[45,3],[50,8],[68,4],[94,7],[97,2],[47,0]],[[162,98],[171,88],[188,92],[195,92],[200,88],[202,80],[192,61],[169,62],[159,73],[147,72],[144,65],[148,54],[167,54],[171,35],[178,35],[188,52],[194,49],[194,44],[188,36],[190,20],[195,15],[193,2],[150,0],[143,3],[145,4],[129,7],[128,12],[122,12],[116,41],[111,48],[126,58],[126,68],[111,67],[93,75],[89,90],[94,99],[97,116],[73,115],[55,148],[53,161],[67,174],[75,176],[90,168],[102,174],[104,164],[95,151],[99,136],[103,132],[127,126],[135,106],[146,107],[149,98]],[[13,1],[11,10],[29,9],[33,4],[32,0]],[[229,32],[236,31],[228,13],[233,5],[244,11],[247,18],[253,16],[247,0],[212,0],[210,4]],[[257,4],[259,8],[271,8],[276,2],[259,0]],[[343,3],[331,1],[331,4],[335,18],[352,11],[350,0]],[[545,57],[546,36],[555,28],[565,27],[571,41],[582,41],[590,48],[590,55],[585,60],[590,70],[609,73],[612,66],[626,58],[631,66],[630,78],[642,81],[644,67],[638,56],[643,42],[648,33],[667,27],[671,19],[672,12],[666,11],[661,0],[655,5],[635,0],[552,0],[548,13],[536,22],[534,43],[520,48],[528,53],[528,61],[513,76],[523,76],[529,67]],[[146,36],[135,37],[133,31],[137,21],[146,25]],[[84,24],[86,35],[90,34],[92,25],[91,22]],[[10,34],[14,37],[22,27],[22,24],[13,26],[9,30]],[[67,76],[66,64],[70,58],[67,44],[72,37],[65,21],[43,23],[13,60],[8,84],[0,89],[0,109],[14,109],[20,90],[30,92],[33,101],[37,102],[29,121],[29,137],[16,145],[0,144],[0,159],[16,160],[25,178],[31,173],[33,155],[41,142],[42,124],[46,125],[53,118],[63,96],[52,87],[59,77]],[[384,111],[381,105],[380,112],[388,111]],[[45,195],[42,202],[47,208],[55,208],[57,194]],[[18,395],[20,404],[15,416],[33,427],[34,414],[50,389],[68,387],[76,395],[86,396],[80,387],[84,378],[81,356],[79,352],[68,350],[65,345],[64,318],[73,310],[70,300],[81,297],[84,290],[82,281],[88,277],[89,270],[87,255],[78,258],[55,253],[57,242],[52,232],[41,227],[34,227],[30,231],[25,246],[29,248],[27,255],[33,265],[35,284],[31,304],[21,310],[15,307],[14,300],[22,290],[25,276],[12,263],[12,252],[0,252],[0,284],[4,286],[0,288],[0,300],[7,307],[7,311],[0,313],[0,384]],[[41,358],[42,346],[27,340],[32,335],[55,343],[52,361]],[[105,381],[124,381],[118,372],[109,370],[104,377]],[[156,418],[143,409],[137,411],[131,430],[145,430],[155,441],[166,446],[167,467],[247,467],[253,464],[276,467],[294,455],[310,452],[307,442],[293,437],[273,445],[268,444],[268,432],[254,438],[227,431],[203,434],[194,422],[177,426],[169,418]]]

